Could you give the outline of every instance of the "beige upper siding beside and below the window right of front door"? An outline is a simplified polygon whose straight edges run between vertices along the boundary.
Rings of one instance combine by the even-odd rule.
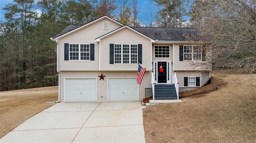
[[[200,65],[200,63],[204,62],[204,61],[180,61],[180,45],[188,45],[188,44],[182,44],[182,43],[174,44],[174,71],[198,71],[198,70],[200,71],[200,70],[202,70],[200,67],[198,67],[196,65]],[[193,62],[195,63],[194,66],[193,66]],[[206,68],[206,70],[210,70],[210,69]]]

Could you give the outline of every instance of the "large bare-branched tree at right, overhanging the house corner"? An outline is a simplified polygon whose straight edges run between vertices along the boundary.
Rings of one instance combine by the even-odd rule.
[[[256,0],[195,0],[190,15],[213,68],[256,72]]]

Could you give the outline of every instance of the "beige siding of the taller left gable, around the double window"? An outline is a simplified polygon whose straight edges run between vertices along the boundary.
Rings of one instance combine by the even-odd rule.
[[[103,30],[103,22],[109,23],[109,29]],[[99,22],[88,25],[70,35],[59,39],[59,70],[76,71],[76,70],[99,70],[99,43],[96,38],[119,28],[120,25],[104,18]],[[95,61],[64,61],[64,43],[72,44],[91,44],[94,43],[94,60]]]

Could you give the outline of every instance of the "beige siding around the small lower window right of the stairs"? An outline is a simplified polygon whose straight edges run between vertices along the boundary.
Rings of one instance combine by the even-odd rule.
[[[192,71],[176,71],[177,80],[179,83],[179,87],[200,87],[200,86],[184,86],[184,77],[200,77],[200,85],[202,81],[200,72],[192,72]]]

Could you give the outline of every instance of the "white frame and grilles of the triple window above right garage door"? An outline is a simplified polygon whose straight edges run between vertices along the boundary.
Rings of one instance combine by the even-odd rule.
[[[115,53],[115,46],[116,45],[121,45],[121,53]],[[123,53],[123,45],[129,45],[129,54],[127,54],[127,53]],[[137,53],[135,54],[135,53],[131,53],[131,45],[137,45]],[[138,45],[139,44],[117,44],[117,43],[115,43],[114,44],[114,64],[138,64]],[[115,60],[115,55],[121,55],[121,62],[120,63],[116,63],[116,60]],[[123,55],[129,55],[129,63],[123,63],[124,61],[123,61]],[[137,57],[137,60],[136,60],[136,63],[131,63],[131,55],[136,55],[136,57]]]

